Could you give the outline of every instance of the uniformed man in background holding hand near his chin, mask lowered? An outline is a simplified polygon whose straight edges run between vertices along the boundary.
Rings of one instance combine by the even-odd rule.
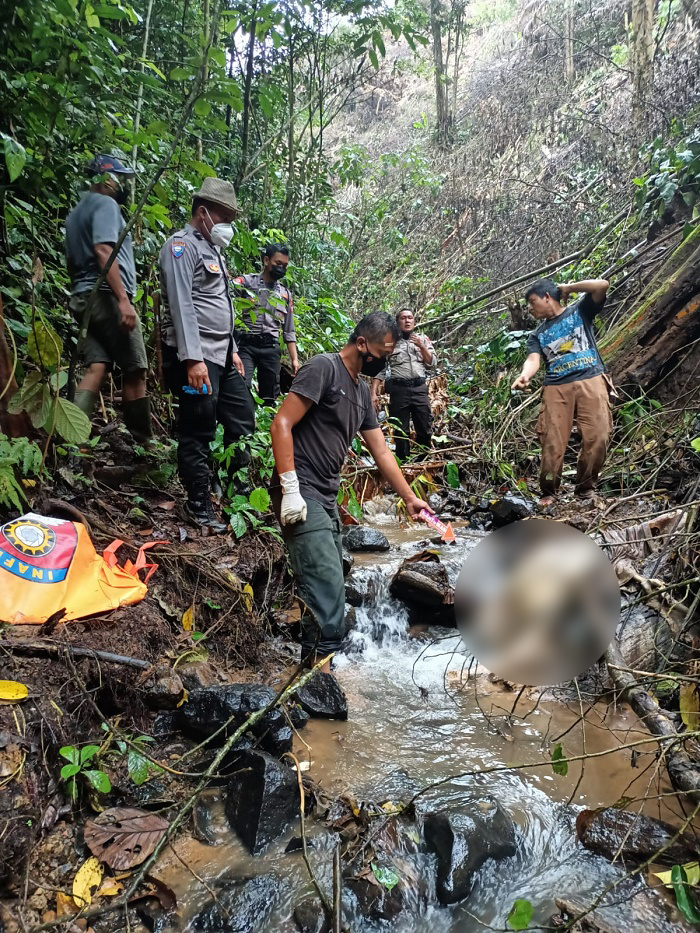
[[[396,456],[406,460],[411,452],[409,431],[411,418],[416,429],[416,441],[421,447],[430,447],[433,416],[428,398],[427,370],[435,366],[435,350],[424,334],[416,334],[416,319],[411,311],[400,311],[396,315],[399,325],[399,340],[388,359],[391,379],[389,381],[389,417],[401,425],[401,436],[396,437]],[[372,380],[372,401],[379,405],[379,386],[384,379],[380,373]],[[398,431],[396,432],[399,433]]]

